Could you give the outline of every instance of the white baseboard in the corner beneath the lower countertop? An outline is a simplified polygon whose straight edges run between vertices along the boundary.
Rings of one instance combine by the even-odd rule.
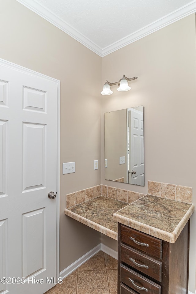
[[[114,257],[115,259],[118,259],[117,251],[115,251],[115,250],[111,249],[110,247],[100,243],[96,247],[92,248],[85,255],[83,255],[81,258],[79,258],[75,262],[73,262],[70,266],[66,267],[66,269],[63,269],[62,272],[60,272],[60,277],[62,279],[64,279],[65,277],[69,276],[70,273],[72,273],[74,270],[76,270],[79,266],[81,266],[83,263],[85,263],[88,259],[90,259],[93,255],[98,253],[100,250],[104,251],[105,253],[107,253],[108,255],[110,255],[112,257]]]

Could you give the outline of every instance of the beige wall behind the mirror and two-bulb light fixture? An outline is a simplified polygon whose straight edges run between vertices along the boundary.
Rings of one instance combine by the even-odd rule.
[[[175,22],[102,58],[102,84],[123,74],[137,76],[128,92],[102,97],[102,162],[104,112],[144,105],[145,187],[114,187],[147,193],[148,180],[193,187],[196,204],[196,58],[195,14]],[[104,177],[102,184],[110,185]],[[195,291],[196,216],[190,224],[189,290]]]

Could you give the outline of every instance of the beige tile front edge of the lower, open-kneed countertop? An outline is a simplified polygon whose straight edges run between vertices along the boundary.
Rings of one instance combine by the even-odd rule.
[[[92,228],[92,229],[94,229],[94,230],[96,230],[106,236],[111,237],[112,239],[115,239],[115,240],[118,239],[118,233],[116,233],[108,228],[105,228],[105,227],[101,226],[100,224],[93,222],[92,220],[88,220],[87,218],[82,217],[79,214],[70,211],[69,209],[65,209],[64,213],[67,216],[73,218],[74,220],[77,220],[77,221],[81,222],[82,224],[85,224],[86,226],[88,226],[88,227],[90,227],[90,228]]]

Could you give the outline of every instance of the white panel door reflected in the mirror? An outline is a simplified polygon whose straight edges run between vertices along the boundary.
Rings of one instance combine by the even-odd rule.
[[[129,111],[129,183],[144,186],[144,119],[143,113],[137,110]],[[132,174],[131,171],[135,171]]]

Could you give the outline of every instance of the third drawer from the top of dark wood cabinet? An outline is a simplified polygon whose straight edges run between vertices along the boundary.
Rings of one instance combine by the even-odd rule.
[[[120,265],[120,281],[140,294],[161,294],[161,286],[134,272],[126,266]]]

